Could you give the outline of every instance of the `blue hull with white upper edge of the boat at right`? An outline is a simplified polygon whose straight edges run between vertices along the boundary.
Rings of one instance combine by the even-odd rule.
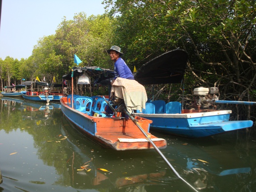
[[[252,127],[252,120],[230,121],[231,110],[183,114],[143,114],[152,120],[152,130],[190,138],[212,136],[228,131]]]

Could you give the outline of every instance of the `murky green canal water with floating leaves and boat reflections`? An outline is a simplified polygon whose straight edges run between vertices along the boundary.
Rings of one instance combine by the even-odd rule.
[[[102,148],[72,127],[58,103],[2,98],[0,106],[0,191],[192,191],[155,150]],[[256,187],[252,132],[196,140],[153,134],[167,140],[161,152],[198,191]]]

